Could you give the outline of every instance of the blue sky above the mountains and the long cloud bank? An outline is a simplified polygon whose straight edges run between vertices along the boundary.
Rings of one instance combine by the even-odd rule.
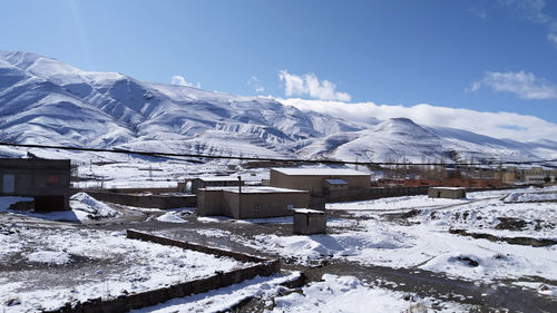
[[[0,49],[245,96],[557,123],[557,1],[3,0]]]

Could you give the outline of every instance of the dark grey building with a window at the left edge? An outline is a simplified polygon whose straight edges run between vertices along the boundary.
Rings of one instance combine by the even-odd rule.
[[[69,159],[0,159],[0,196],[35,197],[36,211],[69,209]]]

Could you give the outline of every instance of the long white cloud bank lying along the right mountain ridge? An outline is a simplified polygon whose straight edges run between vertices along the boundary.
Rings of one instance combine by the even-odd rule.
[[[442,126],[516,140],[554,139],[557,124],[541,118],[514,113],[486,113],[420,104],[412,107],[375,105],[373,102],[346,104],[340,101],[277,99],[284,105],[303,111],[316,111],[352,121],[385,120],[407,117],[426,126]]]

